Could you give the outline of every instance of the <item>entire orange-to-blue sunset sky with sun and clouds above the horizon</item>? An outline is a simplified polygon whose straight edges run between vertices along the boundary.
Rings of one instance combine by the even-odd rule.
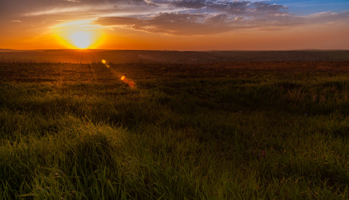
[[[0,0],[0,48],[349,49],[348,0]]]

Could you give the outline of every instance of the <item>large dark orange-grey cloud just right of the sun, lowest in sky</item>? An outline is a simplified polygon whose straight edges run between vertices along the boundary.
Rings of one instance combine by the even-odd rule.
[[[227,14],[209,16],[207,14],[159,13],[148,17],[150,19],[99,17],[95,23],[103,26],[180,36],[211,35],[248,28],[240,23],[241,18],[231,18]]]

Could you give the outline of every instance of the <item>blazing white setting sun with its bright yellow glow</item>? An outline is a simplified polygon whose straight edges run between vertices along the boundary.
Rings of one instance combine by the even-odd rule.
[[[91,21],[72,21],[53,27],[57,39],[68,48],[97,48],[103,43],[102,28]]]

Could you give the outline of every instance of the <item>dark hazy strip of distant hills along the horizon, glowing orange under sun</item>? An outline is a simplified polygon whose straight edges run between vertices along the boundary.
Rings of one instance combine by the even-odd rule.
[[[1,50],[1,49],[0,49]],[[13,49],[10,49],[13,50]],[[349,50],[298,51],[152,51],[108,49],[36,49],[0,53],[1,62],[260,62],[260,61],[315,61],[349,60]]]

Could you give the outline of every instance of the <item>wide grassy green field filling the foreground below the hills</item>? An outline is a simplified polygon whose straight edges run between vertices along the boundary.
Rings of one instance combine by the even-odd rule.
[[[0,199],[348,199],[348,98],[349,61],[2,62]]]

